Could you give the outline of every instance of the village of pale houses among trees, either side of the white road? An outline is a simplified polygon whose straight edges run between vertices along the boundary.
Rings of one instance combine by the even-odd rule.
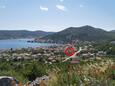
[[[0,53],[0,59],[6,61],[36,60],[42,63],[52,64],[61,62],[67,57],[64,53],[66,46],[68,45],[44,48],[8,49]],[[82,52],[80,53],[82,59],[95,59],[104,56],[106,56],[106,52],[96,51],[91,44],[82,46]]]

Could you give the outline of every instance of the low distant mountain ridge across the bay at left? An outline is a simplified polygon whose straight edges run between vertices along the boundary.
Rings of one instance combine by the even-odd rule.
[[[27,30],[0,30],[0,39],[36,38],[51,35],[54,32]]]

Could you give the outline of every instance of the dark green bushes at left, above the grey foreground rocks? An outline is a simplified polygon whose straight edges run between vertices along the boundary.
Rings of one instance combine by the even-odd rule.
[[[47,75],[47,66],[36,61],[10,62],[0,61],[0,75],[13,76],[19,81],[26,83],[37,77]]]

